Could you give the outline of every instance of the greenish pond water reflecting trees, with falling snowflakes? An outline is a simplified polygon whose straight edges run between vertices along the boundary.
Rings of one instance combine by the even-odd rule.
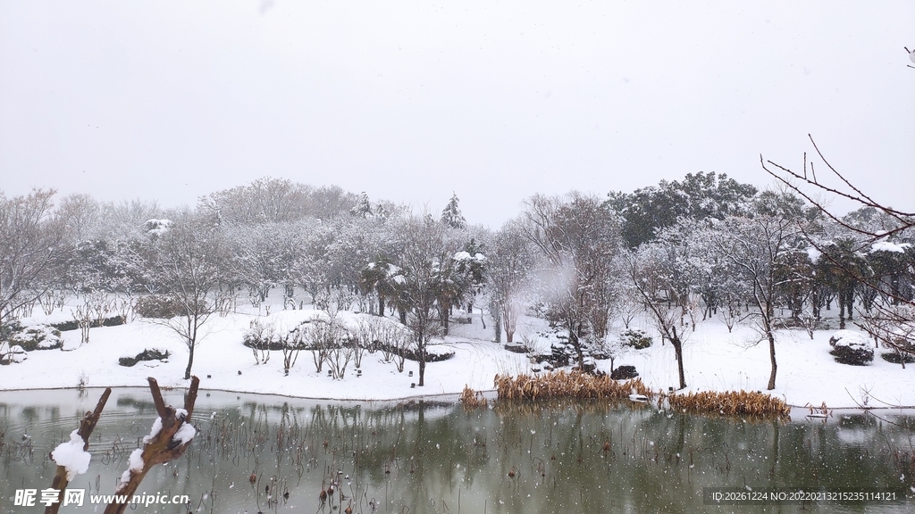
[[[0,392],[0,510],[16,489],[50,486],[48,453],[100,390]],[[307,393],[307,391],[303,391]],[[182,392],[166,400],[183,404]],[[298,400],[200,391],[186,455],[140,487],[189,505],[137,512],[909,512],[911,413],[835,412],[826,420],[689,416],[646,404]],[[70,487],[111,494],[156,410],[147,390],[119,388],[92,434],[89,471]],[[256,477],[252,484],[250,477]],[[331,482],[336,490],[322,502]],[[705,487],[765,491],[892,490],[895,501],[831,505],[710,504]],[[340,493],[344,496],[340,498]],[[711,492],[709,492],[711,494]],[[39,493],[40,496],[40,493]],[[102,511],[68,506],[61,512]]]

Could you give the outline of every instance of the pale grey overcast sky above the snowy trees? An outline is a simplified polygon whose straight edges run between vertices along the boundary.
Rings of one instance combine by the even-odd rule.
[[[915,209],[915,2],[0,0],[0,190],[193,205],[258,177],[492,227],[813,148]]]

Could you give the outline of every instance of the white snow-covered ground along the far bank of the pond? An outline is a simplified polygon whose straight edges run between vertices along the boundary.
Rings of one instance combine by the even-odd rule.
[[[283,324],[314,316],[315,311],[278,311],[262,319],[282,319]],[[59,314],[52,315],[58,321]],[[351,313],[339,316],[352,321]],[[418,367],[407,360],[404,372],[398,372],[393,363],[384,362],[382,354],[366,353],[357,376],[352,363],[345,378],[328,377],[327,367],[318,373],[310,352],[302,351],[284,376],[283,354],[271,352],[266,364],[257,364],[251,348],[242,346],[244,331],[250,327],[256,314],[213,316],[203,329],[197,347],[193,374],[201,380],[201,387],[210,390],[246,391],[280,394],[303,398],[340,400],[393,400],[419,395],[459,393],[465,385],[477,391],[492,389],[496,374],[531,372],[530,359],[522,354],[506,351],[500,344],[490,342],[490,320],[482,327],[479,314],[469,325],[452,324],[451,335],[440,344],[454,350],[452,359],[426,365],[425,387],[411,388],[418,381]],[[45,322],[46,316],[23,320],[24,325]],[[633,327],[645,329],[653,335],[651,327],[637,320]],[[888,405],[915,405],[915,365],[902,369],[881,359],[886,350],[877,349],[874,361],[868,366],[839,364],[829,355],[829,337],[835,330],[823,330],[811,339],[806,332],[782,330],[778,333],[776,357],[778,359],[777,387],[771,394],[792,405],[807,403],[819,406],[825,402],[830,408],[855,407],[867,404],[873,407]],[[524,337],[541,351],[549,351],[550,340],[543,320],[524,318],[516,334],[516,342]],[[92,328],[90,342],[80,345],[80,331],[62,333],[63,349],[29,352],[21,363],[0,368],[0,389],[74,388],[80,384],[89,387],[145,386],[146,377],[156,377],[160,385],[184,387],[183,380],[188,363],[188,348],[167,327],[138,319],[120,327]],[[700,322],[696,331],[684,344],[684,369],[687,391],[765,391],[770,374],[768,344],[753,344],[759,337],[749,327],[735,327],[733,333],[713,319]],[[134,356],[145,348],[168,350],[170,358],[141,361],[134,367],[118,364],[125,355]],[[636,367],[641,379],[652,389],[667,390],[677,384],[677,367],[673,348],[662,345],[654,337],[651,348],[630,350],[619,355],[617,366],[629,364]],[[608,371],[609,360],[598,360],[598,369]],[[409,376],[413,371],[414,376]]]

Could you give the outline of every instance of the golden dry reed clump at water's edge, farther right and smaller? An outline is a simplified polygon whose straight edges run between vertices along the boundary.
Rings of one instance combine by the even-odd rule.
[[[791,408],[778,398],[757,391],[702,391],[667,397],[672,409],[726,416],[787,417]]]

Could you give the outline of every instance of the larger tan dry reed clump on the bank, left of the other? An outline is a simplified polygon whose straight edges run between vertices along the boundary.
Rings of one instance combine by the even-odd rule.
[[[555,371],[540,376],[518,375],[493,380],[500,400],[547,400],[575,398],[579,400],[626,400],[636,393],[648,398],[654,392],[640,379],[618,382],[607,375]]]

